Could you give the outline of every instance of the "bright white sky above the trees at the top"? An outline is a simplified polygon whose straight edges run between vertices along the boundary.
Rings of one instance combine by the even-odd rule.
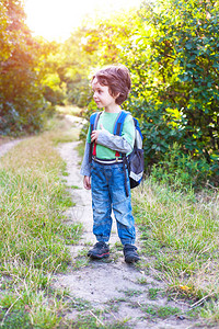
[[[24,0],[26,24],[34,35],[65,41],[84,16],[107,16],[139,5],[142,0]]]

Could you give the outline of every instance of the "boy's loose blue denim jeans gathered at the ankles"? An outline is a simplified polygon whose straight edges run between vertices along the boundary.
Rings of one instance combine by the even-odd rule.
[[[105,164],[92,160],[93,234],[96,236],[97,241],[108,242],[113,224],[113,211],[122,243],[135,245],[136,230],[131,214],[128,172],[126,177],[128,196],[125,190],[123,163]]]

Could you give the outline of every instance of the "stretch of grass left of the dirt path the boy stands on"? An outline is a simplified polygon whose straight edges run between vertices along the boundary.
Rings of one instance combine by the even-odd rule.
[[[53,120],[54,129],[23,140],[1,158],[2,328],[55,328],[61,321],[65,303],[50,290],[51,280],[70,264],[68,245],[77,243],[82,231],[78,223],[65,224],[73,201],[61,179],[66,163],[54,146],[78,138],[77,129],[65,125],[70,126]]]

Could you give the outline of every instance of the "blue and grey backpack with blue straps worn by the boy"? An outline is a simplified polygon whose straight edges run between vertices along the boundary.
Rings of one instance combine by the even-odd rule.
[[[91,125],[91,132],[96,129],[97,122],[100,118],[102,112],[93,113],[90,117],[90,125]],[[114,126],[114,135],[122,136],[124,122],[127,115],[129,115],[129,112],[126,112],[124,110],[120,111]],[[142,149],[142,134],[140,131],[140,126],[138,123],[138,120],[132,117],[134,124],[135,124],[135,144],[134,149],[130,155],[126,156],[125,154],[122,154],[123,163],[124,163],[124,170],[125,164],[128,168],[128,175],[130,181],[130,189],[134,189],[138,186],[142,180],[143,175],[143,149]],[[92,159],[92,149],[93,146],[91,144],[90,147],[90,161]],[[125,171],[126,172],[126,171]],[[128,195],[128,189],[126,186],[126,194]]]

